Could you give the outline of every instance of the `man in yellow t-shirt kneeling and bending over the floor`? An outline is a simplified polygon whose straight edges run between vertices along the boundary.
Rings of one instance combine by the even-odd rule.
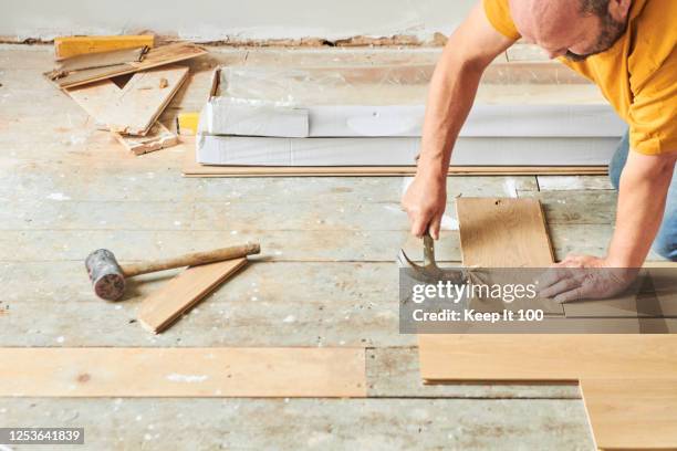
[[[594,82],[628,124],[610,165],[619,192],[608,252],[569,255],[559,266],[635,269],[652,243],[677,261],[676,18],[677,0],[482,0],[450,36],[430,82],[418,170],[403,198],[412,233],[439,237],[451,149],[480,77],[522,39]],[[636,271],[610,273],[612,284],[561,280],[550,294],[562,302],[613,295]]]

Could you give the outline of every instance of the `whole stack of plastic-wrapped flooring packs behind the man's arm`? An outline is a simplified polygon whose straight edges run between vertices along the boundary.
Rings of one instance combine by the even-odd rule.
[[[222,69],[185,174],[410,174],[430,74],[416,65]],[[482,85],[450,171],[598,174],[624,128],[589,84]]]

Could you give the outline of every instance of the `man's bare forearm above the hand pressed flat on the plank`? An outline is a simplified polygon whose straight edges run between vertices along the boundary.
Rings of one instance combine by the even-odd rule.
[[[644,263],[663,221],[674,168],[674,157],[631,151],[621,177],[616,229],[607,256],[611,266],[639,268]]]

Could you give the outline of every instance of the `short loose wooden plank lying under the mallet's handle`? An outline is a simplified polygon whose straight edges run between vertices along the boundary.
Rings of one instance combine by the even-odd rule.
[[[236,259],[186,269],[142,302],[139,323],[156,334],[165,331],[246,264]]]

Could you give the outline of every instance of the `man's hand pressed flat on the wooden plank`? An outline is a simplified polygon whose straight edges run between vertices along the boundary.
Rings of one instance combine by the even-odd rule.
[[[633,283],[636,269],[610,268],[605,259],[592,255],[567,255],[554,264],[539,281],[543,297],[565,303],[612,297]]]

